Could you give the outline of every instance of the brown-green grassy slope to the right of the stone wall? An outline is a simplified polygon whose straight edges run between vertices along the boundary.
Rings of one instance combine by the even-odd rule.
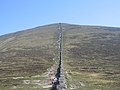
[[[68,90],[119,90],[119,48],[119,28],[64,26]]]

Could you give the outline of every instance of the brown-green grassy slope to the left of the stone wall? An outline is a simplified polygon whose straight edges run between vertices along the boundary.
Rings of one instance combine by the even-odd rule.
[[[0,37],[0,90],[41,88],[48,78],[42,74],[54,63],[57,28],[53,24]]]

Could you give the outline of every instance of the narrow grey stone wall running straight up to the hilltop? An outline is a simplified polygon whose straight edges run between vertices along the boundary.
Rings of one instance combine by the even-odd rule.
[[[64,68],[63,68],[63,59],[62,59],[62,50],[63,50],[63,30],[62,30],[62,24],[59,23],[58,27],[58,32],[59,32],[59,38],[58,38],[58,44],[59,44],[59,64],[55,78],[53,80],[53,87],[51,90],[66,90],[67,85],[66,85],[66,80],[65,80],[65,75],[64,75]]]

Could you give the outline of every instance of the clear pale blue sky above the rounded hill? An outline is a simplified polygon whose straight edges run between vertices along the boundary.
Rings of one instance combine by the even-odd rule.
[[[0,0],[0,35],[59,22],[120,27],[120,0]]]

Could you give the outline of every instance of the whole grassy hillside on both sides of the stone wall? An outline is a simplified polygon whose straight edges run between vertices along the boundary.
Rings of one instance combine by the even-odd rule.
[[[119,90],[120,28],[61,25],[67,89]],[[50,90],[58,28],[50,24],[0,36],[0,90]]]

